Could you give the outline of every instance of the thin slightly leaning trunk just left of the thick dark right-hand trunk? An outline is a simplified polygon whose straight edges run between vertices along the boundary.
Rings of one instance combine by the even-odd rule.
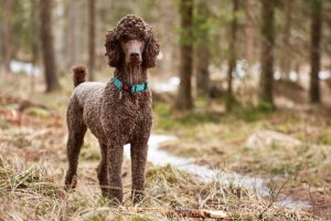
[[[239,9],[239,1],[233,0],[233,19],[231,22],[231,39],[228,45],[228,70],[227,70],[227,96],[226,96],[226,110],[231,112],[233,103],[234,103],[234,95],[233,95],[233,74],[236,69],[236,61],[237,61],[237,29],[238,29],[238,20],[237,20],[237,12]]]

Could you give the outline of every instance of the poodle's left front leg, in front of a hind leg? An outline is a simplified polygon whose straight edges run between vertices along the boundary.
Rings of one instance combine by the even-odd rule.
[[[108,175],[109,175],[109,199],[114,204],[122,202],[121,165],[122,146],[117,141],[107,145]]]

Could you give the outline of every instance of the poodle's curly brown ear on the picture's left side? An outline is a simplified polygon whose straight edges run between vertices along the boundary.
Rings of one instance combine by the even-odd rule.
[[[117,31],[110,30],[106,34],[106,56],[110,66],[119,67],[124,57],[120,42],[117,40]]]

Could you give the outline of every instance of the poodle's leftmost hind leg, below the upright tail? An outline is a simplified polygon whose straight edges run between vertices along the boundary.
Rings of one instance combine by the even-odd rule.
[[[74,189],[77,185],[77,165],[81,148],[84,143],[86,125],[83,119],[83,109],[75,97],[72,98],[67,109],[68,139],[66,145],[66,157],[68,169],[65,176],[65,188]]]

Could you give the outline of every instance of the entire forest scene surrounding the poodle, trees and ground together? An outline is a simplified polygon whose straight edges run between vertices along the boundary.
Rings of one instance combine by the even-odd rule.
[[[0,2],[0,221],[331,220],[330,0]],[[67,107],[74,66],[111,83],[106,41],[127,14],[159,54],[145,197],[126,145],[114,207],[89,130],[66,191]]]

